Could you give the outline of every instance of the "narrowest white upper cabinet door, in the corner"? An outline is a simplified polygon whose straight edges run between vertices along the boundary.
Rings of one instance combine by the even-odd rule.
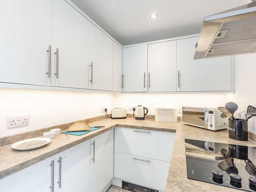
[[[122,91],[122,54],[122,47],[113,42],[113,91]]]

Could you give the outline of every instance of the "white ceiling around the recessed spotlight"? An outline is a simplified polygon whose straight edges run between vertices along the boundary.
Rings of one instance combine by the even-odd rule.
[[[205,16],[244,0],[71,0],[122,45],[200,33]],[[152,20],[149,15],[157,13]]]

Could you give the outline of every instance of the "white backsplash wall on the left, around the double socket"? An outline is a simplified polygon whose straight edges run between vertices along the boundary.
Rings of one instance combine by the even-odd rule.
[[[100,116],[102,107],[114,107],[114,94],[0,89],[0,136]],[[7,128],[7,116],[26,114],[29,126]]]

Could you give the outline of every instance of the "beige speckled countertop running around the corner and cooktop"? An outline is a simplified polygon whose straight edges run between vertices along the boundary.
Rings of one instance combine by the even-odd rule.
[[[174,147],[172,151],[172,159],[170,162],[170,170],[166,184],[166,192],[237,192],[238,190],[208,184],[187,178],[186,174],[186,155],[184,139],[207,140],[212,142],[223,142],[229,144],[241,144],[246,146],[254,146],[252,141],[242,142],[228,138],[227,130],[213,132],[188,125],[178,123],[156,122],[153,119],[134,120],[133,118],[112,120],[103,119],[89,123],[90,126],[105,126],[82,136],[69,135],[66,140],[64,134],[60,134],[52,139],[47,146],[30,151],[16,151],[10,145],[0,148],[0,178],[8,176],[18,170],[26,168],[36,162],[44,160],[54,154],[84,142],[98,134],[106,132],[116,126],[138,128],[147,130],[158,130],[176,132]]]

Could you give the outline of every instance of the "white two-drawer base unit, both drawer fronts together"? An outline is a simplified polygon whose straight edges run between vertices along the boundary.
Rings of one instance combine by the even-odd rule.
[[[115,128],[114,184],[125,180],[164,191],[174,138],[172,132]]]

